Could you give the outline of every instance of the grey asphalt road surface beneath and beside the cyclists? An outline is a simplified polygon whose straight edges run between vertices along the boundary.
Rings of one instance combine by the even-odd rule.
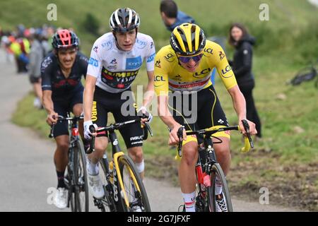
[[[49,204],[50,188],[57,185],[54,142],[11,123],[11,114],[18,100],[31,89],[28,76],[17,75],[14,63],[6,62],[0,49],[0,211],[67,212],[67,208],[59,210]],[[153,211],[176,212],[182,204],[179,188],[147,177],[144,183]],[[232,202],[235,211],[298,211],[271,204],[261,205],[258,201],[251,203],[233,198]],[[93,202],[90,210],[97,210]]]

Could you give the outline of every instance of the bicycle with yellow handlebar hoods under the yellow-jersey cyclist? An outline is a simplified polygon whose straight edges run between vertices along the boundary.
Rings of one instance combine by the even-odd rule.
[[[252,138],[249,134],[249,124],[246,120],[242,120],[247,137],[245,137],[245,147],[241,149],[246,153],[254,147]],[[178,131],[179,145],[176,158],[182,157],[182,133],[183,127]],[[218,141],[214,143],[222,143],[220,138],[212,136],[213,133],[220,131],[240,130],[239,126],[228,126],[219,129],[201,129],[199,131],[186,131],[187,135],[204,135],[204,146],[199,145],[199,157],[196,162],[196,211],[197,212],[232,212],[232,201],[228,183],[220,164],[216,160],[216,153],[213,148],[211,137]],[[216,192],[216,189],[222,192]],[[218,193],[218,194],[216,194]],[[219,194],[220,193],[220,194]],[[222,197],[223,196],[223,197]],[[225,202],[224,202],[225,201]]]

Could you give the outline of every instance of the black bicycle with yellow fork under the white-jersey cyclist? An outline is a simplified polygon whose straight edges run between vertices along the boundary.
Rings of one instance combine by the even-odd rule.
[[[108,131],[109,141],[112,144],[112,160],[109,162],[106,153],[100,160],[100,177],[105,191],[103,198],[95,198],[94,203],[102,212],[150,212],[151,207],[146,194],[146,189],[137,171],[134,162],[125,155],[119,147],[115,130],[128,124],[139,122],[140,119],[110,124],[95,130],[90,126],[90,132]],[[145,133],[146,131],[146,133]],[[143,139],[151,133],[151,128],[146,123]],[[90,148],[86,153],[94,151],[95,137],[90,141]]]

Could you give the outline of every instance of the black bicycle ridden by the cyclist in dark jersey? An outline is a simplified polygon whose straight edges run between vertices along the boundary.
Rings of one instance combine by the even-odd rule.
[[[64,183],[69,191],[67,207],[71,206],[72,212],[88,212],[88,180],[86,174],[86,156],[83,144],[79,138],[78,121],[81,117],[66,118],[59,115],[58,121],[68,121],[69,124],[69,163],[66,167]],[[53,137],[53,124],[49,138]]]

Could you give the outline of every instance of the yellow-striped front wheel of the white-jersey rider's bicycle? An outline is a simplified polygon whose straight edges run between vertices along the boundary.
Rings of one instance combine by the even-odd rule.
[[[124,189],[117,182],[119,196],[122,200],[122,211],[124,212],[150,212],[151,207],[146,194],[146,189],[130,157],[121,155],[118,158],[120,174]],[[118,177],[117,177],[118,178]]]

